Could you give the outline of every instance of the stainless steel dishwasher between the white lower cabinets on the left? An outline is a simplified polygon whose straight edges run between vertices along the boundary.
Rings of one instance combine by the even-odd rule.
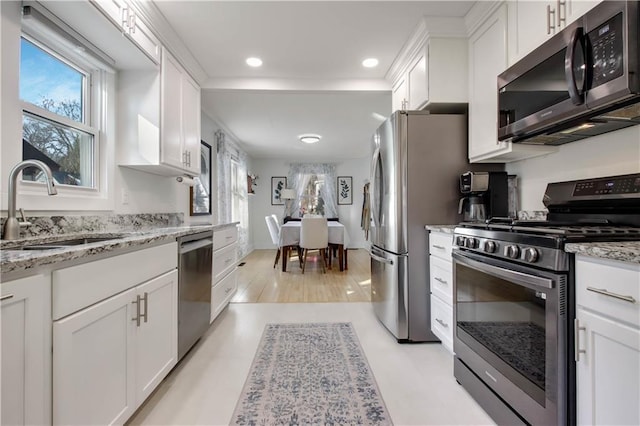
[[[209,328],[213,231],[178,238],[178,360]]]

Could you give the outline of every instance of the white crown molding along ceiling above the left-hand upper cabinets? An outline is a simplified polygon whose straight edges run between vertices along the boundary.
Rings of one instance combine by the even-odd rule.
[[[180,64],[189,72],[198,84],[204,83],[209,75],[202,65],[193,56],[189,48],[178,37],[173,27],[164,17],[158,6],[151,1],[129,0],[140,13],[145,23],[151,27],[151,31],[160,39],[160,42],[171,52]]]

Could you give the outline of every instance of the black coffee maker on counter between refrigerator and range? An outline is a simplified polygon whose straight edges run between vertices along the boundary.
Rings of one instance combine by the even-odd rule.
[[[460,175],[458,214],[465,222],[509,216],[507,172],[466,172]]]

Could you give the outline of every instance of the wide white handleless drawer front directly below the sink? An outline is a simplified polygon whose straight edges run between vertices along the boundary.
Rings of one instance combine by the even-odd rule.
[[[59,319],[178,266],[176,242],[53,271],[52,315]]]

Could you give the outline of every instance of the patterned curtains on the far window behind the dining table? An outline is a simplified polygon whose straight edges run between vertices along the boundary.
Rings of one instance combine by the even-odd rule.
[[[327,163],[292,163],[289,165],[287,176],[288,187],[296,191],[296,200],[292,203],[292,211],[287,212],[292,217],[301,217],[304,210],[305,191],[310,180],[316,176],[323,184],[319,185],[319,196],[325,217],[338,217],[336,203],[336,166]]]

